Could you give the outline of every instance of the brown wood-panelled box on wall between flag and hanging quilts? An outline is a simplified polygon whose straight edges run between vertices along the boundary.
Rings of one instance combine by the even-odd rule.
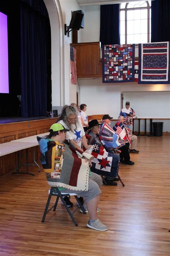
[[[77,52],[77,78],[101,77],[100,42],[71,44]]]

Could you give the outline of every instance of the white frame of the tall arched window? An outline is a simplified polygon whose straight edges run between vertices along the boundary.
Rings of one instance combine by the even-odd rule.
[[[120,9],[119,9],[120,14],[121,14],[121,11],[125,11],[125,13],[124,13],[124,15],[125,15],[125,44],[127,44],[127,11],[128,10],[147,9],[147,42],[150,42],[150,9],[151,9],[151,6],[148,1],[145,1],[145,2],[147,4],[147,7],[145,6],[145,7],[127,8],[128,4],[131,3],[131,2],[127,2],[125,5],[125,8],[121,8],[121,4],[120,4]],[[120,18],[121,18],[121,15],[120,15]],[[121,27],[121,19],[119,20],[119,24]]]

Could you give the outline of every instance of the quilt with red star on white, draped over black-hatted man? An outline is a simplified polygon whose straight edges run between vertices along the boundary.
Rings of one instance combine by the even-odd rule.
[[[94,158],[91,160],[92,167],[90,170],[99,175],[115,178],[119,171],[119,156],[114,153],[108,153],[103,145],[92,136],[86,134],[86,138],[88,139],[88,145],[93,145],[91,154]]]

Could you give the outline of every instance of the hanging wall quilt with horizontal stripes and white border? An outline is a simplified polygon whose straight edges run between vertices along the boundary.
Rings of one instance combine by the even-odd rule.
[[[139,44],[138,84],[169,84],[170,42]]]

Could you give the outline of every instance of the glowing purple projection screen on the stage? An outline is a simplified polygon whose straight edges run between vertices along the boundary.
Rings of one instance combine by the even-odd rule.
[[[9,93],[7,15],[0,12],[0,93]]]

